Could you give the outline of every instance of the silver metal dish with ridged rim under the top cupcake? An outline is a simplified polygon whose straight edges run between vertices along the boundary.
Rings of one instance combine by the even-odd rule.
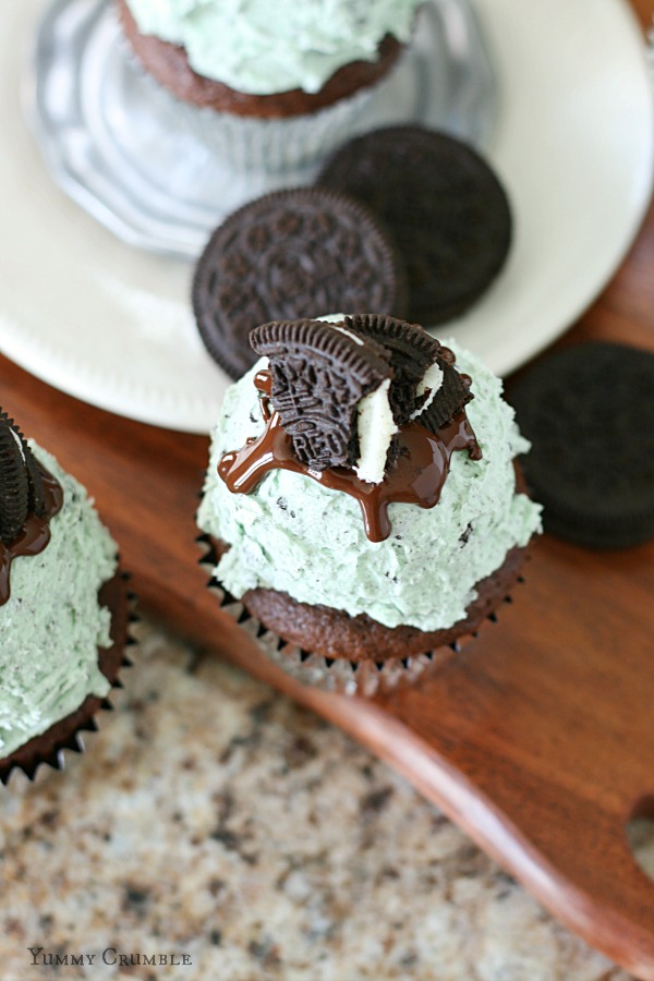
[[[179,125],[175,100],[145,75],[106,0],[55,0],[38,25],[32,116],[53,178],[124,241],[195,257],[252,197],[312,181],[314,167],[235,172]],[[468,0],[429,0],[413,44],[358,132],[419,122],[483,145],[496,87]]]

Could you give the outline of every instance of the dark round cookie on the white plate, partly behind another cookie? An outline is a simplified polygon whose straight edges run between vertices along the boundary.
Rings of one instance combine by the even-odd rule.
[[[458,316],[505,263],[507,194],[488,164],[451,136],[420,126],[367,133],[341,147],[317,183],[359,198],[389,228],[407,266],[410,319]]]

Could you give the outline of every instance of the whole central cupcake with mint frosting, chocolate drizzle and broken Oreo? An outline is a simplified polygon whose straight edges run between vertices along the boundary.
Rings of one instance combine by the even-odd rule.
[[[501,384],[392,317],[275,322],[251,343],[198,511],[215,580],[294,673],[413,677],[493,614],[541,528]]]

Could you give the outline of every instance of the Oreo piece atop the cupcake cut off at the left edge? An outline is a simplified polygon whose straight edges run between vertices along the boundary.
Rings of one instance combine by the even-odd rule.
[[[0,410],[0,541],[10,545],[27,516],[43,516],[43,481],[32,450],[13,420]]]

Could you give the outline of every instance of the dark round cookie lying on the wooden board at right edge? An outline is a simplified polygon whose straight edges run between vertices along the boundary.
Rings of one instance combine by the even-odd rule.
[[[588,342],[538,361],[508,392],[547,532],[593,548],[654,536],[654,354]]]

